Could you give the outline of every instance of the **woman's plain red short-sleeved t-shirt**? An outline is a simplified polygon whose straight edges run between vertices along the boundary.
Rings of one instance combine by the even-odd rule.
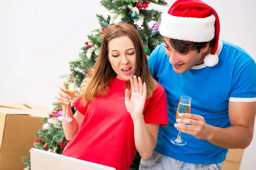
[[[107,96],[96,97],[83,105],[81,97],[73,106],[84,120],[78,133],[70,140],[62,155],[76,159],[128,170],[137,152],[134,142],[134,124],[125,107],[125,81],[113,79]],[[144,108],[145,123],[168,125],[166,94],[157,84],[154,95]]]

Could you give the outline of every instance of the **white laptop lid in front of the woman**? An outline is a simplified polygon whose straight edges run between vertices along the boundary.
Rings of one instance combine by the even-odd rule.
[[[35,148],[30,150],[30,159],[31,170],[116,170],[113,167]]]

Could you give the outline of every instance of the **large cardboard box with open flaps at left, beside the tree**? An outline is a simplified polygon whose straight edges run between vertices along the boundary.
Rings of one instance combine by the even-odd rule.
[[[35,132],[49,109],[35,104],[0,102],[0,170],[23,170],[22,157],[30,158]]]

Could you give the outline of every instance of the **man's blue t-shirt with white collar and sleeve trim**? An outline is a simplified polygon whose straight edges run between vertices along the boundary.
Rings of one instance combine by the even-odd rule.
[[[179,161],[193,164],[216,164],[226,159],[227,149],[181,133],[186,145],[172,144],[177,137],[176,110],[180,96],[192,98],[191,113],[204,117],[215,127],[230,127],[228,103],[256,102],[256,64],[240,47],[219,41],[218,65],[196,65],[184,74],[177,74],[165,53],[164,44],[158,45],[148,62],[154,79],[166,90],[169,126],[161,127],[155,150]],[[246,113],[242,113],[246,114]]]

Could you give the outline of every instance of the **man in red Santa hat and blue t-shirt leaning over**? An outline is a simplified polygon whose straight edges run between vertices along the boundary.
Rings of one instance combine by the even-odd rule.
[[[151,158],[140,170],[221,170],[227,148],[246,148],[256,114],[256,64],[240,47],[219,40],[213,8],[200,0],[177,0],[161,18],[164,44],[148,62],[166,90],[169,126],[161,127]],[[191,114],[176,111],[192,98]],[[186,125],[180,125],[183,123]],[[172,144],[178,130],[186,145]]]

